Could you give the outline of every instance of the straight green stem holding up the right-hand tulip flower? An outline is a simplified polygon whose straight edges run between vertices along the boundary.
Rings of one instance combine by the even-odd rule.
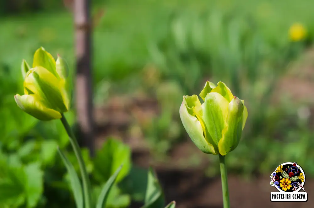
[[[224,208],[230,208],[229,191],[228,191],[228,176],[225,156],[219,154],[220,162],[220,175],[221,175],[221,185],[222,185],[222,198],[224,202]]]

